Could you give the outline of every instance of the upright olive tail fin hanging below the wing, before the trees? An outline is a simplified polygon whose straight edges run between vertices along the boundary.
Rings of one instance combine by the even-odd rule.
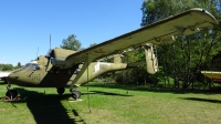
[[[147,72],[155,74],[158,71],[158,61],[152,44],[145,45]]]

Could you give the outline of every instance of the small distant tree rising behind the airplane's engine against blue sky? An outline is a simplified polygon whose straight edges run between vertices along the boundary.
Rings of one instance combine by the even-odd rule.
[[[69,35],[67,39],[63,39],[61,48],[78,51],[78,50],[81,50],[81,45],[82,45],[82,43],[78,40],[76,40],[76,35],[71,34],[71,35]]]

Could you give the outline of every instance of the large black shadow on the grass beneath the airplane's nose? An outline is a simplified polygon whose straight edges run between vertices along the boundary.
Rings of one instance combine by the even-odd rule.
[[[75,110],[66,110],[61,100],[67,100],[69,94],[44,94],[24,89],[17,89],[21,99],[33,114],[36,124],[75,124],[85,123]],[[70,114],[71,113],[71,114]]]

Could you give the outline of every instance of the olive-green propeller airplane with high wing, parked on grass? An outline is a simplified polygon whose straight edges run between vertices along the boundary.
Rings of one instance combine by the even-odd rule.
[[[18,97],[18,92],[10,89],[11,84],[56,87],[59,94],[70,89],[72,97],[78,100],[81,92],[76,87],[103,73],[136,66],[120,60],[120,55],[128,49],[143,48],[147,72],[155,74],[158,71],[158,61],[154,45],[172,43],[177,35],[193,34],[202,28],[213,29],[218,24],[217,19],[207,10],[193,8],[82,51],[55,48],[49,55],[40,55],[23,68],[11,72],[4,100]],[[114,62],[101,62],[108,56],[113,56]]]

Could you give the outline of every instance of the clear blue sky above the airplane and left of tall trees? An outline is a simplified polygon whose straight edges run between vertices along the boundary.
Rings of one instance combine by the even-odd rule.
[[[144,0],[0,0],[0,63],[25,64],[75,34],[82,48],[140,28]]]

